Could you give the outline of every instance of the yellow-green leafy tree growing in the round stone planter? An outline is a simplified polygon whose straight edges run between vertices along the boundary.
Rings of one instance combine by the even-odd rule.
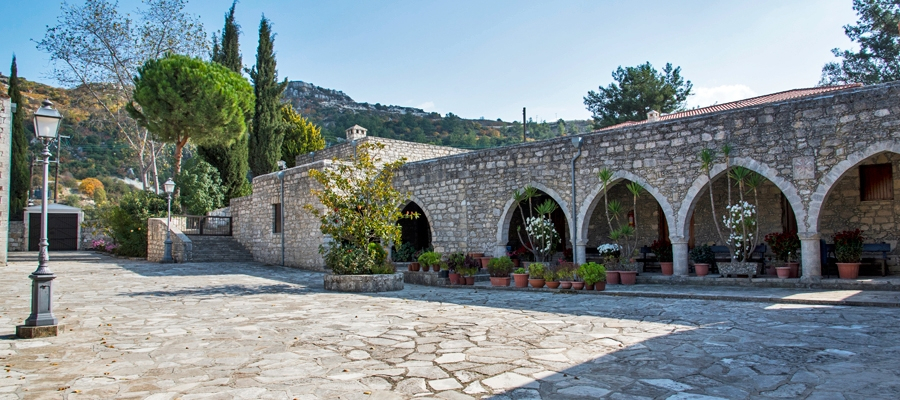
[[[419,217],[401,212],[400,204],[409,194],[391,185],[405,159],[378,167],[381,160],[375,153],[382,148],[380,143],[362,143],[349,159],[309,173],[322,186],[312,190],[322,207],[305,208],[319,218],[319,229],[332,239],[319,252],[335,275],[393,273],[384,249],[400,243],[397,221]]]

